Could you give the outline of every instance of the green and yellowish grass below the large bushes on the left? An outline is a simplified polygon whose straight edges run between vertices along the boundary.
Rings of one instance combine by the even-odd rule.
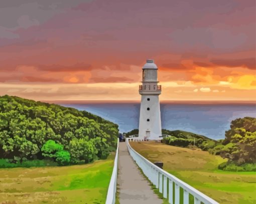
[[[0,203],[105,203],[113,155],[91,164],[0,169]]]

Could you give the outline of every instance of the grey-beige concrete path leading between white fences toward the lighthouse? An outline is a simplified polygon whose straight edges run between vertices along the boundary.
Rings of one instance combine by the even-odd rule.
[[[117,192],[120,204],[163,203],[130,156],[125,142],[119,143],[118,157]]]

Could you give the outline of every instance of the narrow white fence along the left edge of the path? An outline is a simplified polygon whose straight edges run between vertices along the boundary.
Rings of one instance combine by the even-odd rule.
[[[115,157],[114,157],[114,167],[113,167],[111,179],[110,179],[110,182],[109,182],[109,185],[108,185],[106,204],[114,204],[115,203],[116,179],[117,179],[117,162],[118,162],[118,146],[119,146],[119,139],[117,139],[117,147],[116,147],[116,153],[115,153]]]

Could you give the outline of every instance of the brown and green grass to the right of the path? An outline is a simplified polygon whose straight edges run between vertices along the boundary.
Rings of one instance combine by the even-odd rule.
[[[163,161],[164,169],[220,203],[256,203],[255,172],[227,172],[217,166],[226,161],[200,149],[158,142],[131,142],[149,160]]]

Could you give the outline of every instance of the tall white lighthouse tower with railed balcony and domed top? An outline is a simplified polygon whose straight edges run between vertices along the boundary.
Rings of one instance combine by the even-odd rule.
[[[139,138],[146,137],[150,140],[157,140],[162,135],[159,103],[161,85],[158,85],[158,67],[153,59],[147,59],[147,63],[142,69],[143,79],[142,85],[139,87],[139,93],[142,95]]]

